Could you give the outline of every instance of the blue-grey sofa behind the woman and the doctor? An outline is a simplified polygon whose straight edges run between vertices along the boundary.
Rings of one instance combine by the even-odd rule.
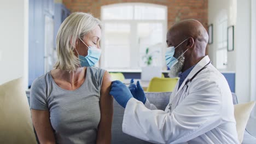
[[[28,103],[30,103],[30,93],[27,92]],[[171,92],[160,92],[160,93],[146,93],[146,97],[150,101],[150,103],[154,104],[158,107],[159,110],[165,110],[169,99],[170,99]],[[238,104],[237,97],[235,93],[232,93],[233,97],[233,104]],[[112,123],[112,143],[113,144],[144,144],[150,143],[143,140],[139,140],[136,137],[132,137],[130,135],[124,134],[122,131],[122,123],[123,123],[123,116],[124,116],[124,108],[121,107],[117,101],[114,100],[114,116],[113,116],[113,123]],[[256,143],[256,137],[251,135],[247,130],[245,130],[243,136],[243,144],[251,144]]]

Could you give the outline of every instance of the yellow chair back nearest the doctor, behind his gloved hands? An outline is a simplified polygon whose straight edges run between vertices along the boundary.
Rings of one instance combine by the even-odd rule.
[[[178,78],[153,77],[149,82],[147,92],[172,92]]]

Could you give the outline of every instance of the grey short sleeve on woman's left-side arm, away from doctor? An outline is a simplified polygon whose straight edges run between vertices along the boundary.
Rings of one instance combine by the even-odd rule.
[[[48,110],[45,87],[46,84],[40,79],[33,82],[30,91],[30,109]]]

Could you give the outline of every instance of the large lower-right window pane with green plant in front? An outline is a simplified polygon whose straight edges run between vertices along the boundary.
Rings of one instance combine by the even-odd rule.
[[[140,65],[145,66],[147,61],[146,49],[152,56],[152,65],[161,65],[162,50],[162,23],[138,23],[137,36],[140,53]],[[144,57],[144,58],[143,58]]]

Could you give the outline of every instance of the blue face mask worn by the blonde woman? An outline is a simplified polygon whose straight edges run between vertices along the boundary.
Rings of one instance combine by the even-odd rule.
[[[80,39],[80,40],[84,43],[84,41],[82,39]],[[94,46],[87,46],[87,47],[88,47],[88,55],[87,56],[85,56],[85,57],[81,56],[77,52],[81,67],[92,67],[98,62],[98,60],[101,57],[101,49],[97,49]],[[75,49],[75,50],[77,51],[77,49]]]

